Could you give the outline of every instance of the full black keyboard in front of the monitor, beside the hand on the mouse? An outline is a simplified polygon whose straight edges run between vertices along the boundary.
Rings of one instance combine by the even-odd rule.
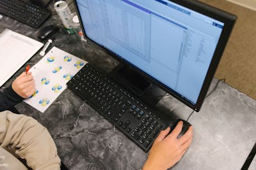
[[[68,81],[67,86],[145,152],[168,126],[165,122],[168,118],[160,117],[90,64]]]

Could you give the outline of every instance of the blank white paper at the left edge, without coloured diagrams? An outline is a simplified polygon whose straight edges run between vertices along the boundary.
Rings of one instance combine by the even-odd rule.
[[[23,64],[43,46],[17,32],[6,29],[0,34],[0,86],[3,85]]]

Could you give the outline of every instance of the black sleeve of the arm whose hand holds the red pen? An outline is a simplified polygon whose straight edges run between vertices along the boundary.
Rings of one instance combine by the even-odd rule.
[[[12,86],[0,92],[0,111],[8,110],[22,101],[20,97],[13,89]]]

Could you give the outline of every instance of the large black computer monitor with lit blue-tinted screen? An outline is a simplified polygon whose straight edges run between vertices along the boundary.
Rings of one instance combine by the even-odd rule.
[[[87,38],[200,110],[236,16],[194,0],[76,0],[74,4]]]

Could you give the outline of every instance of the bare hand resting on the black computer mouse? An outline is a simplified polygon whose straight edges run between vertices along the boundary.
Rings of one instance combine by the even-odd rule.
[[[183,122],[180,121],[169,135],[170,127],[160,132],[152,145],[143,170],[165,170],[179,162],[193,139],[192,126],[189,127],[183,136],[177,139],[182,130],[182,125]]]

